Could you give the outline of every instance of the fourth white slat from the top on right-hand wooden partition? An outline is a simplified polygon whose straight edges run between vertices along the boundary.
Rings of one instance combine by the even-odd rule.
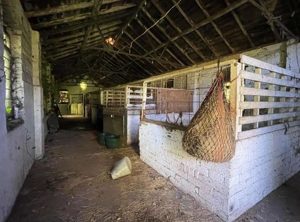
[[[240,102],[240,109],[300,107],[300,102]]]

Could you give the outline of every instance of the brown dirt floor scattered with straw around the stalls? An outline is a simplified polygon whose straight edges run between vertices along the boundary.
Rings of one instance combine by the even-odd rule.
[[[139,158],[138,147],[106,149],[81,116],[64,116],[46,138],[8,221],[222,221]],[[108,171],[128,156],[132,174]],[[300,221],[300,173],[236,221]]]

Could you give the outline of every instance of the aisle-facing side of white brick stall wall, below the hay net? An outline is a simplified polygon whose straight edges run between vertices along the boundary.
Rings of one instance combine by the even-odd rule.
[[[142,121],[140,158],[203,206],[227,220],[230,164],[205,162],[187,154],[182,149],[183,133],[179,129]]]

